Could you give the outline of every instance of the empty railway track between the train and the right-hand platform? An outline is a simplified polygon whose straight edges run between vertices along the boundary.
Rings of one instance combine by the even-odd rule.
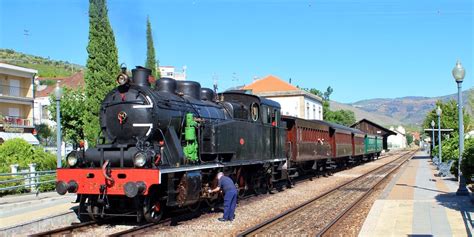
[[[415,152],[403,153],[392,162],[255,225],[239,236],[287,234],[322,236]]]

